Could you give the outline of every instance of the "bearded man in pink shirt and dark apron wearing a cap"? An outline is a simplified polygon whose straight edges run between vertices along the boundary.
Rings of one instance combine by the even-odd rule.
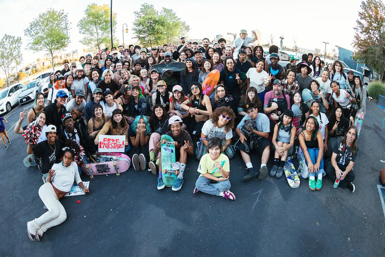
[[[270,131],[274,132],[274,125],[282,118],[283,113],[290,109],[290,98],[282,93],[282,83],[280,80],[274,80],[273,90],[265,94],[263,112],[270,119]]]

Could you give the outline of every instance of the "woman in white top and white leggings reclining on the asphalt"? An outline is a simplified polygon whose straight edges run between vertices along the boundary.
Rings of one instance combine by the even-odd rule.
[[[35,239],[40,241],[49,228],[60,225],[66,220],[67,213],[60,199],[71,190],[73,182],[76,182],[84,193],[89,193],[78,173],[78,165],[74,162],[74,151],[69,148],[63,151],[63,161],[53,164],[52,169],[49,169],[47,183],[44,183],[38,191],[48,211],[27,222],[28,237],[31,241]]]

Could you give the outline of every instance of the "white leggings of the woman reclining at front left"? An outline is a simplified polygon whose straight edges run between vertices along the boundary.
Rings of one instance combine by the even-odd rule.
[[[57,198],[51,183],[45,183],[40,187],[39,196],[48,211],[30,222],[32,223],[32,229],[36,231],[29,232],[32,234],[38,232],[40,235],[43,235],[47,229],[62,224],[67,218],[67,213],[63,205],[60,203],[59,198]]]

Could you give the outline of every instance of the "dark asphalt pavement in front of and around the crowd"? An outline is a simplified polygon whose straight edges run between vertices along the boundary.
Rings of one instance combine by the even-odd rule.
[[[82,176],[91,181],[90,194],[64,197],[66,222],[49,229],[41,242],[29,241],[26,226],[46,211],[37,194],[41,172],[24,167],[26,144],[13,133],[18,113],[27,106],[32,103],[6,115],[12,144],[4,151],[0,143],[0,256],[385,255],[384,214],[376,188],[384,166],[380,160],[385,159],[385,112],[375,102],[367,103],[358,141],[354,193],[333,189],[327,178],[317,192],[304,179],[298,189],[290,188],[284,177],[243,182],[244,165],[237,154],[230,160],[236,200],[194,195],[198,160],[189,158],[179,192],[158,191],[155,175],[132,168],[120,177]],[[259,167],[260,158],[252,159]]]

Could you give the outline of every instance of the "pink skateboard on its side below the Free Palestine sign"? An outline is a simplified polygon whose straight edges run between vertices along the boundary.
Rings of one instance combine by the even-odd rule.
[[[130,168],[130,165],[124,160],[85,163],[82,165],[83,172],[90,176],[91,179],[94,175],[104,174],[116,174],[117,177],[119,177],[120,174],[127,171],[128,168]]]

